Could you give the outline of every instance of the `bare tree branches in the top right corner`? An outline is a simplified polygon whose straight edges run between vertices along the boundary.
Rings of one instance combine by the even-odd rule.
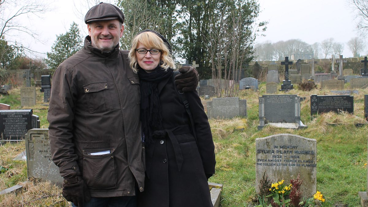
[[[360,21],[357,24],[358,31],[362,36],[367,35],[368,31],[368,0],[350,0],[350,4],[357,11]]]

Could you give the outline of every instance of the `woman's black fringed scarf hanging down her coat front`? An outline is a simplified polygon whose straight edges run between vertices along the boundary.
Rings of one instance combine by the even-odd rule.
[[[162,130],[161,105],[158,83],[173,74],[173,69],[165,71],[157,66],[151,73],[139,67],[138,76],[141,87],[141,122],[143,131],[143,140],[149,144],[152,143],[152,132]]]

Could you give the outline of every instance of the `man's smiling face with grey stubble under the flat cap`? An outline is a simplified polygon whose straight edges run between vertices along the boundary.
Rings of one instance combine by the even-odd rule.
[[[123,36],[124,26],[116,20],[95,21],[87,25],[92,46],[100,50],[112,51]]]

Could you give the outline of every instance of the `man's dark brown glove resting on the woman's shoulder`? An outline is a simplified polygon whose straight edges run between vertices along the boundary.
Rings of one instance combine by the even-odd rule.
[[[194,91],[198,86],[198,71],[191,66],[184,66],[179,69],[180,74],[175,76],[175,84],[178,90],[188,92]]]

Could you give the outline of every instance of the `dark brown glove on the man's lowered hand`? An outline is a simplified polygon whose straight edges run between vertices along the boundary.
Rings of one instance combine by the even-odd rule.
[[[91,199],[88,187],[81,176],[64,179],[63,196],[67,201],[73,202],[78,207],[83,207],[84,202]]]

